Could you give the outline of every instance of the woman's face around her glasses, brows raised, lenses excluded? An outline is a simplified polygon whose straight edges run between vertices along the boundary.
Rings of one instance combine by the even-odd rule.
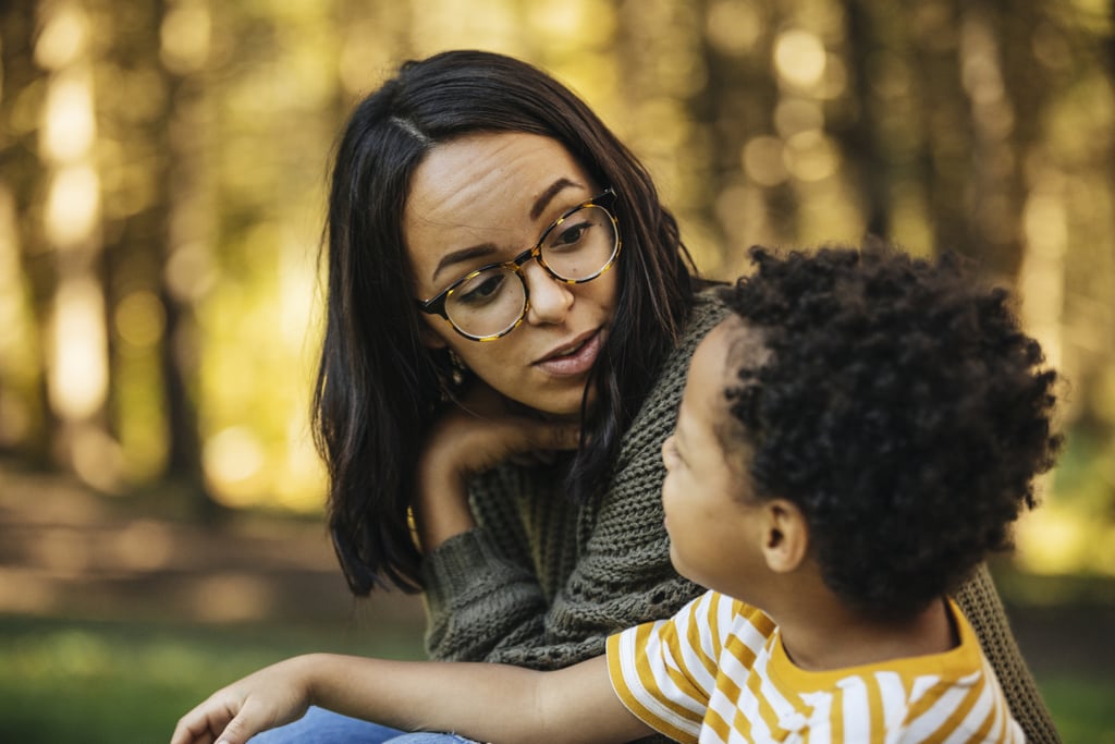
[[[600,190],[549,137],[475,134],[438,145],[415,171],[404,213],[414,296],[429,299],[474,269],[510,261]],[[530,309],[510,334],[473,341],[443,318],[424,315],[424,341],[452,348],[508,398],[546,414],[575,416],[615,316],[619,272],[564,284],[529,261],[522,276]]]

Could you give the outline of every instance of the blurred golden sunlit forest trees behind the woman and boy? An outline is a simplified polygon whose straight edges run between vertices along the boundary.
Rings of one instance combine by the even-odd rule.
[[[1111,0],[2,2],[0,515],[70,503],[48,499],[39,476],[56,474],[135,518],[117,534],[133,568],[169,560],[138,515],[195,534],[230,514],[317,524],[331,148],[400,61],[476,47],[579,91],[649,166],[708,276],[744,271],[754,243],[872,232],[1015,288],[1067,380],[1067,448],[1001,586],[1019,603],[1111,602],[1112,25]],[[33,551],[12,547],[28,534],[0,544],[0,615],[55,606],[29,589]],[[65,538],[37,550],[39,573],[81,563],[58,558]],[[339,581],[327,553],[316,570]],[[222,586],[243,600],[246,584]],[[13,659],[25,679],[47,664]],[[1111,717],[1101,728],[1115,738]]]

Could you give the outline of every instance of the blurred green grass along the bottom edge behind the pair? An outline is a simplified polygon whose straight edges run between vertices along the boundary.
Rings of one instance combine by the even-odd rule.
[[[416,658],[414,629],[0,618],[0,742],[157,744],[216,687],[308,650]],[[1067,744],[1115,744],[1115,679],[1038,675]]]

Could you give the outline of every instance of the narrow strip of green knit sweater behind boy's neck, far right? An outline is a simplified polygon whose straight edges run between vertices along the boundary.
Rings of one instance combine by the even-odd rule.
[[[983,655],[995,667],[1010,712],[1026,733],[1026,741],[1029,744],[1059,744],[1060,737],[1018,650],[986,563],[981,563],[957,592],[957,603],[976,629]]]

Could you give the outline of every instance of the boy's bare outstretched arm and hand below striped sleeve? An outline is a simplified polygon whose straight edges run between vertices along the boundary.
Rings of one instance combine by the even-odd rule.
[[[452,731],[501,744],[628,742],[653,733],[615,696],[604,657],[534,671],[312,654],[219,690],[183,716],[171,744],[244,744],[299,718],[309,705],[405,731]]]

